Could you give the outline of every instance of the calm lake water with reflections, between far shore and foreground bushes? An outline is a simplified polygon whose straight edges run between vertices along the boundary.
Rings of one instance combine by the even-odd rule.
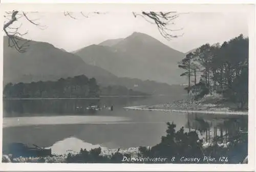
[[[167,129],[166,122],[174,122],[179,130],[205,130],[213,135],[248,130],[246,115],[186,114],[161,111],[125,110],[124,106],[155,105],[181,97],[101,98],[90,100],[4,100],[3,150],[12,142],[54,147],[53,153],[79,150],[88,144],[128,148],[154,146]],[[88,111],[89,105],[109,107]]]

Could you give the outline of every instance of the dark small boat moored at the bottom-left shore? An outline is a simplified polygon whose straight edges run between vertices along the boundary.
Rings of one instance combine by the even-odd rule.
[[[35,147],[28,147],[23,143],[11,143],[9,145],[8,154],[12,154],[12,157],[46,157],[52,155],[51,148],[46,149],[37,145],[34,146]]]

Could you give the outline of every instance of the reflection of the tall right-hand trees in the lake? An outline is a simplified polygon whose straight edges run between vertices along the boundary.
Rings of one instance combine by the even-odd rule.
[[[201,138],[210,142],[226,142],[238,132],[248,132],[248,116],[245,115],[209,115],[187,114],[185,125],[189,131],[195,130]]]

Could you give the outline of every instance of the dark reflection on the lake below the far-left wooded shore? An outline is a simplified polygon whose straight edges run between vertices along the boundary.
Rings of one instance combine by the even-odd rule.
[[[24,99],[4,100],[4,117],[20,116],[52,116],[52,115],[93,115],[97,111],[88,109],[90,106],[121,107],[123,104],[136,103],[145,97],[134,98],[101,98],[101,99]],[[31,115],[33,114],[33,115]]]

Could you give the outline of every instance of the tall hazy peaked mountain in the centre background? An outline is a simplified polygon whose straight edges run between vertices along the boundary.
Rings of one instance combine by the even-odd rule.
[[[180,77],[182,71],[178,68],[178,62],[185,54],[143,33],[135,32],[124,39],[106,40],[75,51],[75,54],[118,77],[168,84],[186,82],[184,77]]]

